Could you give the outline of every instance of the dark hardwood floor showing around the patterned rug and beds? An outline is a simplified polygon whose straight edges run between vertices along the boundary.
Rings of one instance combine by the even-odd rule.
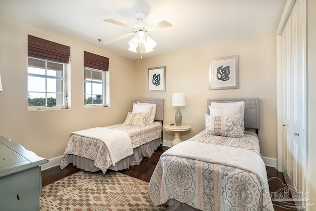
[[[169,147],[159,146],[155,153],[152,155],[151,158],[144,158],[140,165],[138,166],[131,166],[130,169],[120,170],[118,172],[141,179],[143,181],[149,182],[150,178],[155,170],[155,167],[158,163],[160,155],[166,151]],[[270,193],[277,192],[284,188],[285,180],[283,174],[278,172],[275,168],[266,167],[268,180],[269,180],[269,189]],[[53,183],[59,179],[62,179],[66,176],[69,176],[73,173],[80,171],[72,164],[69,164],[65,169],[60,169],[59,166],[53,167],[50,169],[43,170],[41,172],[42,176],[42,186],[48,185]],[[111,170],[108,170],[109,172]],[[274,209],[275,211],[286,211],[288,209],[281,208],[277,202],[274,202]],[[291,209],[293,211],[293,209]],[[295,211],[295,210],[294,210]]]

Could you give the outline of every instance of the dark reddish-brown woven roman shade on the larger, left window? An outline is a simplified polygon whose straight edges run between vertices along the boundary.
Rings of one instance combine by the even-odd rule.
[[[28,56],[68,64],[70,47],[28,35]]]

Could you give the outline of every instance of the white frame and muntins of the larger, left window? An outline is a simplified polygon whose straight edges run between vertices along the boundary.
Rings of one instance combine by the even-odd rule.
[[[34,74],[34,73],[29,73],[29,69],[28,69],[28,77],[32,76],[32,77],[39,77],[39,78],[45,78],[46,83],[45,83],[45,92],[38,92],[38,93],[45,93],[45,106],[29,106],[29,97],[28,97],[28,110],[29,111],[37,111],[37,110],[57,110],[57,109],[68,109],[68,96],[67,96],[67,66],[69,64],[66,63],[62,63],[62,62],[55,62],[55,61],[50,61],[47,59],[40,59],[40,58],[36,58],[36,57],[31,57],[28,56],[28,59],[36,59],[36,60],[40,60],[40,61],[45,61],[45,75],[40,75],[40,74]],[[57,63],[57,64],[62,64],[63,65],[63,77],[59,77],[59,76],[47,76],[47,62],[51,62],[51,63]],[[28,64],[28,68],[29,68],[29,64]],[[47,79],[59,79],[59,80],[63,80],[63,92],[47,92]],[[28,94],[29,92],[37,92],[37,91],[29,91],[28,90]],[[62,93],[63,94],[63,105],[56,105],[56,106],[47,106],[47,94],[49,93]],[[57,100],[57,99],[56,99]]]

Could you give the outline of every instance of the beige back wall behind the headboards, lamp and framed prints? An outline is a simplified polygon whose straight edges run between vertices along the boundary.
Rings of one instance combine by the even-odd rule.
[[[159,44],[159,43],[158,43]],[[208,90],[208,60],[239,55],[239,89]],[[147,92],[147,68],[166,66],[166,92]],[[260,98],[259,139],[264,157],[277,158],[276,142],[276,35],[263,34],[230,42],[139,59],[134,62],[134,96],[164,99],[164,124],[174,123],[173,92],[184,92],[187,106],[181,108],[183,140],[204,129],[207,98]],[[165,135],[172,140],[173,133]]]

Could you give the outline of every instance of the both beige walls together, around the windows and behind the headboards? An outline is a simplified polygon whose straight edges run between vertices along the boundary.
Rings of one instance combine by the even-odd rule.
[[[131,61],[100,48],[0,17],[0,135],[46,159],[62,155],[71,131],[121,123],[132,99],[164,99],[164,123],[174,122],[171,94],[184,92],[182,132],[191,138],[204,128],[207,98],[259,97],[259,138],[265,157],[276,158],[276,38],[275,33],[223,42]],[[71,109],[27,110],[27,35],[71,47]],[[110,107],[83,107],[83,51],[110,59]],[[239,55],[239,89],[208,90],[208,60]],[[147,92],[147,68],[166,66],[166,92]],[[133,71],[134,69],[134,71]],[[121,76],[124,77],[121,77]],[[131,80],[133,79],[133,80]],[[128,105],[128,106],[126,106]],[[164,133],[165,136],[165,133]],[[167,135],[172,140],[173,133]],[[165,137],[164,137],[165,139]]]

